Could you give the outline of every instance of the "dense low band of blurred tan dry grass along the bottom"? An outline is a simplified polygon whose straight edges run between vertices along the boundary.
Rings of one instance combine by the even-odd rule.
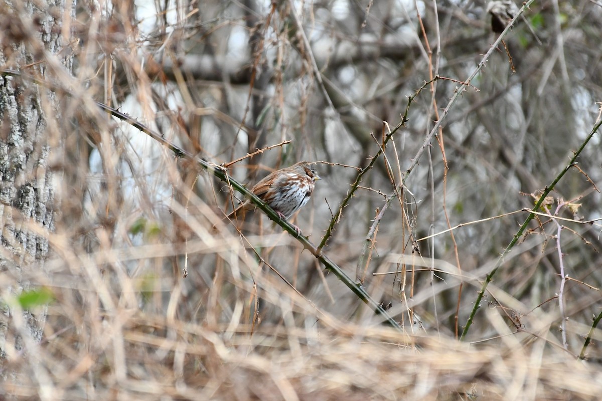
[[[5,369],[16,372],[18,384],[6,384],[8,393],[70,400],[594,400],[602,391],[595,363],[576,361],[544,340],[507,336],[471,346],[330,315],[318,320],[310,305],[276,290],[265,291],[271,293],[265,308],[279,308],[282,320],[255,328],[238,316],[210,323],[203,315],[191,320],[126,301],[99,310],[103,296],[95,288],[106,287],[105,280],[72,284],[79,289],[67,283],[54,289],[43,343],[9,354]],[[108,290],[115,301],[125,298]],[[172,301],[179,298],[173,292]]]

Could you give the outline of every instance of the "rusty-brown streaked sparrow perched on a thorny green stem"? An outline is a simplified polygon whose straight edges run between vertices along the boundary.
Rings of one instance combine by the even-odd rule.
[[[288,219],[307,203],[320,176],[308,162],[299,162],[268,174],[253,186],[251,192],[267,203],[283,219]],[[246,200],[228,218],[243,215],[255,205]],[[299,227],[296,227],[299,231]]]

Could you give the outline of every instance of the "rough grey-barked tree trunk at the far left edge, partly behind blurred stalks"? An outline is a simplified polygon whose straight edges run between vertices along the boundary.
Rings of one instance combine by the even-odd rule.
[[[63,12],[60,0],[0,1],[0,360],[15,350],[31,352],[28,344],[42,339],[46,318],[43,305],[26,308],[14,299],[35,292],[31,279],[44,274],[44,233],[54,229],[49,155],[59,143],[60,108],[54,93],[26,77],[47,79],[46,61],[56,61],[60,50]]]

